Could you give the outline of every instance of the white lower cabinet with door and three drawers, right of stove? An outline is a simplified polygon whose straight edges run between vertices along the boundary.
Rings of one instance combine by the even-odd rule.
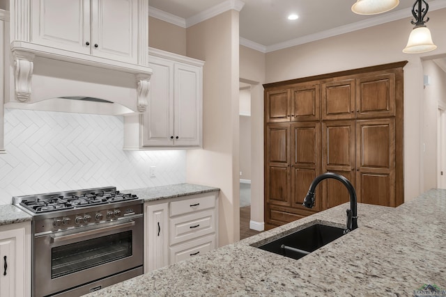
[[[144,272],[218,246],[218,192],[146,202]]]

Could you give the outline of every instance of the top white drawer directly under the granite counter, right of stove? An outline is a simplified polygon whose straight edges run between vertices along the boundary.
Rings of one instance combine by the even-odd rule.
[[[205,193],[192,195],[191,198],[174,201],[170,204],[170,216],[180,214],[190,214],[194,211],[201,211],[215,207],[215,193]]]

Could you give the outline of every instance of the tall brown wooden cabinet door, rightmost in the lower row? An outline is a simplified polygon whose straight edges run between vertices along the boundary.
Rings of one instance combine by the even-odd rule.
[[[356,169],[358,202],[397,206],[394,119],[357,121]]]

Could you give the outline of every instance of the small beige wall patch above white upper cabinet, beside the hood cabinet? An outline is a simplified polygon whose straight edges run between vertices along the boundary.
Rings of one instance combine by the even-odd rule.
[[[186,55],[186,29],[148,17],[148,46]]]

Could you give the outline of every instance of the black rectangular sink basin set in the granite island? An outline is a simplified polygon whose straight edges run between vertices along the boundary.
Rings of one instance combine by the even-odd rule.
[[[259,246],[262,250],[300,259],[344,235],[344,229],[315,224]]]

